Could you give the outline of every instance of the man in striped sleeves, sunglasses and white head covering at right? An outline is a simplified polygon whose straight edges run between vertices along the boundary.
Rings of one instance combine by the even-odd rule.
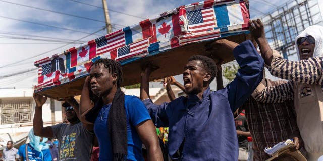
[[[323,155],[323,27],[314,25],[301,32],[295,39],[300,61],[288,61],[270,49],[262,22],[258,19],[252,23],[251,34],[261,37],[257,43],[269,71],[290,80],[277,87],[265,87],[254,97],[266,103],[294,100],[308,160],[317,160]]]

